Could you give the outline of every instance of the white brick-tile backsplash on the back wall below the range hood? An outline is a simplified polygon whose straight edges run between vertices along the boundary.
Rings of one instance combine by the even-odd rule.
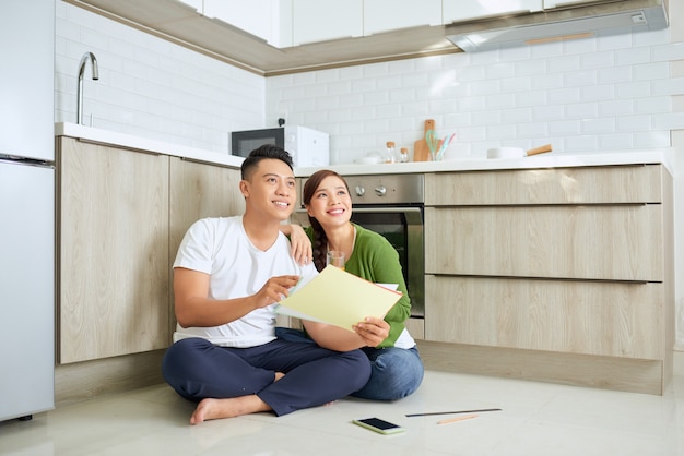
[[[266,117],[330,133],[333,164],[387,141],[412,151],[427,118],[440,135],[456,132],[465,155],[663,147],[684,128],[671,104],[684,82],[670,76],[684,44],[669,39],[661,31],[271,77]]]

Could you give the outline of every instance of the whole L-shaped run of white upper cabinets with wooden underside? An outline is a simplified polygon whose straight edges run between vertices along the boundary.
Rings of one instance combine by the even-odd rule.
[[[566,10],[582,10],[589,16],[605,15],[627,10],[629,5],[657,7],[668,0],[63,1],[167,37],[256,74],[275,76],[378,59],[459,52],[463,47],[447,38],[447,32],[451,37],[455,31],[445,29],[453,23],[458,25],[451,27],[460,28],[467,22],[477,22],[469,25],[477,31],[494,27],[492,22],[497,23],[496,29],[499,25],[512,28],[549,20],[546,15],[552,13],[563,19],[570,15]],[[231,8],[225,7],[228,3]],[[485,25],[485,22],[490,23]],[[651,20],[648,23],[648,29],[667,27],[667,20],[657,21],[656,26]]]

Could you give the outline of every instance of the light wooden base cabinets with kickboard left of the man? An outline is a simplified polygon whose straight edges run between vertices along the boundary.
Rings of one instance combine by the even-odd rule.
[[[66,136],[57,146],[57,401],[158,384],[178,244],[196,219],[244,211],[239,169]]]

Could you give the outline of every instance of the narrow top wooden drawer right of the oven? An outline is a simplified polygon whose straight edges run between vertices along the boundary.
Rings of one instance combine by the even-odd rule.
[[[425,205],[662,202],[661,165],[449,172],[425,176]]]

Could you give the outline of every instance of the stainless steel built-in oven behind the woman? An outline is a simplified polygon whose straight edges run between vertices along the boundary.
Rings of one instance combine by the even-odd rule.
[[[424,317],[423,175],[365,175],[344,179],[352,196],[352,221],[379,232],[394,247],[411,297],[411,316]],[[300,178],[299,192],[305,182],[306,178]],[[295,221],[308,225],[304,208],[297,209]]]

